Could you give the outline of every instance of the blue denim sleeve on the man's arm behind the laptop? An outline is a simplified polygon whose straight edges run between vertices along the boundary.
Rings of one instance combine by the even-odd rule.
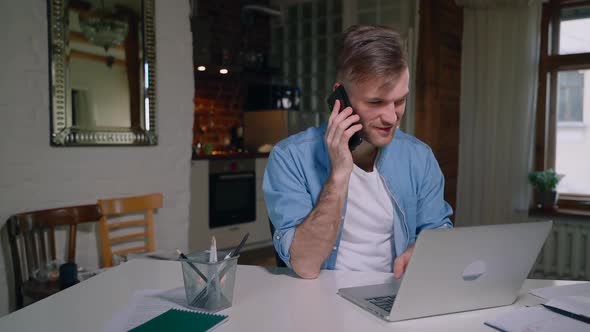
[[[453,227],[449,219],[453,209],[444,199],[444,189],[445,178],[432,150],[429,149],[423,182],[418,194],[416,235],[423,229]]]

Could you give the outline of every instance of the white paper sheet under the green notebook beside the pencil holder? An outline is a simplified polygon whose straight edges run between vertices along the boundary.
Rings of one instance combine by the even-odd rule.
[[[186,307],[184,287],[169,290],[145,289],[133,294],[131,301],[103,327],[103,332],[126,332],[168,311]]]

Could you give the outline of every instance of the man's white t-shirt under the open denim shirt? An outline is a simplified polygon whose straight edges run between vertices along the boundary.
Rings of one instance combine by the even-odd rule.
[[[367,173],[354,165],[336,270],[391,272],[394,218],[397,213],[377,169]]]

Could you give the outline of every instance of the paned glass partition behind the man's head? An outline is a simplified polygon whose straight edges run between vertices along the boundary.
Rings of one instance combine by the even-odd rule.
[[[283,1],[284,20],[271,29],[273,64],[283,68],[280,83],[301,89],[299,112],[289,114],[289,133],[327,121],[326,98],[336,76],[335,61],[343,29],[352,24],[379,24],[402,33],[408,42],[410,76],[414,68],[412,0],[291,0]],[[413,85],[414,83],[412,83]],[[413,86],[410,100],[413,99]],[[402,128],[413,132],[413,104],[406,106]]]

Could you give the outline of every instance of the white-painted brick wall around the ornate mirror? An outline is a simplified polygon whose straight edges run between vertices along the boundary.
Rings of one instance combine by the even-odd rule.
[[[0,40],[10,45],[0,51],[0,226],[17,212],[162,192],[157,246],[187,247],[194,95],[188,15],[188,1],[156,1],[158,146],[56,148],[49,146],[46,0],[0,2]],[[78,240],[79,264],[96,266],[95,229]],[[0,315],[8,312],[6,247],[2,238]]]

